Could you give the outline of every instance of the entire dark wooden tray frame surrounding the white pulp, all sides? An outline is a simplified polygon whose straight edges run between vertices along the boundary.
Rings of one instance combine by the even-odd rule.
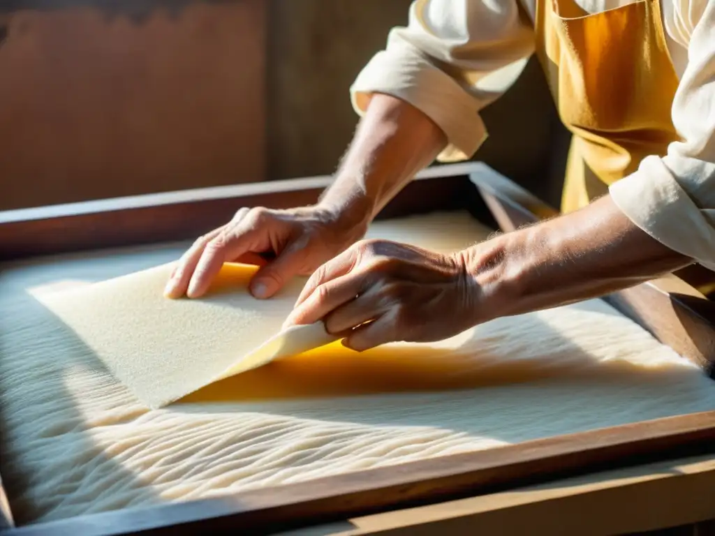
[[[0,258],[190,239],[227,221],[242,206],[315,202],[329,183],[330,178],[317,177],[0,212]],[[505,231],[556,213],[475,163],[425,170],[381,217],[435,209],[470,209],[482,219],[493,217]],[[715,314],[711,302],[695,289],[665,278],[608,299],[662,342],[711,370]],[[9,529],[7,535],[177,534],[228,528],[265,533],[706,452],[715,452],[715,411],[326,477],[310,486],[285,485],[221,499],[87,515]],[[0,501],[0,530],[3,522],[11,526],[11,512]]]

